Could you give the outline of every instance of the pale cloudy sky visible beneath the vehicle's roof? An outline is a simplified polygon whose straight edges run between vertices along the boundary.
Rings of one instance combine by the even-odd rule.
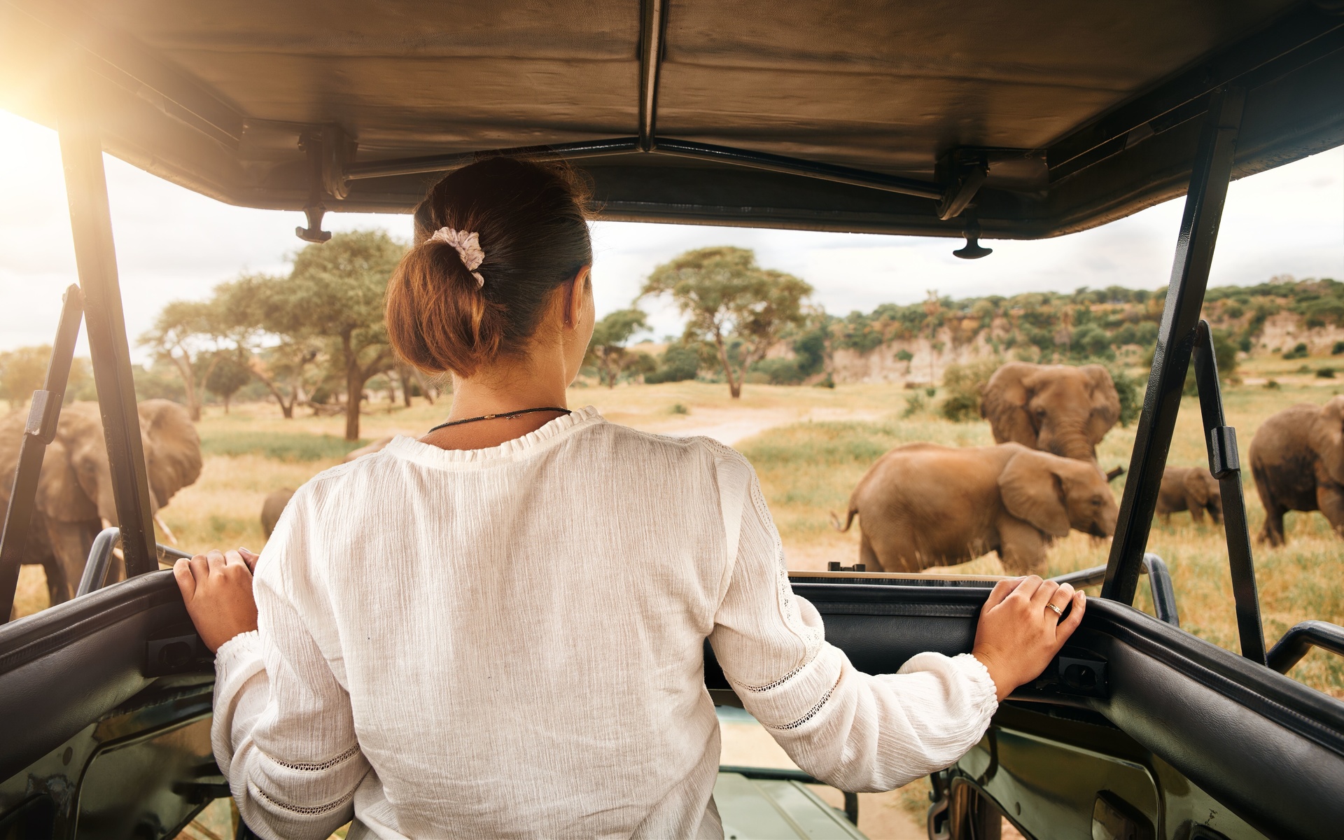
[[[204,298],[243,271],[284,273],[304,243],[300,212],[233,207],[105,157],[113,233],[132,355],[164,302]],[[968,297],[1071,292],[1109,285],[1154,289],[1168,281],[1183,199],[1102,227],[1043,241],[982,241],[984,259],[952,255],[960,239],[828,234],[742,227],[598,222],[598,314],[630,305],[652,269],[711,245],[755,249],[762,266],[802,277],[833,314],[922,300],[926,290]],[[410,216],[328,214],[333,231],[383,227],[410,239]],[[1344,280],[1344,148],[1231,184],[1211,285],[1275,274]],[[48,344],[62,290],[77,281],[55,132],[0,112],[0,351]],[[642,304],[652,335],[680,333],[668,304]],[[86,353],[86,348],[81,348]]]

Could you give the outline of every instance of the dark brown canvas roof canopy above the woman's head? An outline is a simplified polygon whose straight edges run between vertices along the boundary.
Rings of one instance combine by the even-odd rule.
[[[1344,1],[0,0],[0,108],[249,207],[405,212],[552,146],[601,218],[1038,238],[1344,141]]]

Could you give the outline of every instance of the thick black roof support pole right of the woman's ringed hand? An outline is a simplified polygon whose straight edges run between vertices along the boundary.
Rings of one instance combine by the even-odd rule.
[[[1224,87],[1214,91],[1195,165],[1185,192],[1185,212],[1176,241],[1176,262],[1167,305],[1157,329],[1153,368],[1148,375],[1144,411],[1134,434],[1134,452],[1129,461],[1129,478],[1120,503],[1116,539],[1106,564],[1103,598],[1133,603],[1138,574],[1148,546],[1148,532],[1157,507],[1157,491],[1167,466],[1176,414],[1180,411],[1185,371],[1195,347],[1199,310],[1204,305],[1208,269],[1214,261],[1214,243],[1223,216],[1227,183],[1231,180],[1232,156],[1242,122],[1246,93]]]

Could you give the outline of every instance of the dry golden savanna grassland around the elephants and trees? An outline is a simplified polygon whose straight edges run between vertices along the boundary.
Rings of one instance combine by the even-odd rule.
[[[1322,367],[1328,362],[1321,362]],[[1312,366],[1306,366],[1312,367]],[[1243,384],[1226,387],[1228,422],[1238,429],[1243,461],[1255,429],[1273,413],[1297,403],[1322,403],[1344,390],[1332,379],[1302,371],[1302,364],[1277,359],[1247,360]],[[1277,388],[1265,387],[1274,379]],[[836,388],[750,384],[731,401],[722,384],[679,382],[656,386],[574,388],[570,405],[595,405],[614,422],[672,434],[712,434],[728,439],[755,465],[784,538],[792,569],[824,569],[828,560],[852,563],[857,556],[857,527],[847,534],[831,524],[831,513],[845,509],[851,489],[883,452],[913,441],[954,446],[992,444],[988,423],[950,422],[934,410],[905,414],[911,391],[888,384],[841,384]],[[935,401],[929,401],[930,406]],[[442,403],[390,407],[375,403],[362,418],[364,441],[387,434],[419,434],[442,417]],[[301,414],[306,414],[302,411]],[[258,519],[266,493],[297,487],[340,462],[356,444],[341,439],[343,418],[300,417],[286,421],[269,403],[235,406],[230,414],[207,409],[199,423],[204,450],[200,480],[181,491],[164,509],[164,520],[183,547],[259,548],[265,539]],[[1103,468],[1128,466],[1134,426],[1117,426],[1098,448]],[[1171,464],[1206,462],[1199,407],[1187,398],[1172,442]],[[1114,482],[1117,499],[1124,477]],[[1245,474],[1251,531],[1263,509],[1249,470]],[[1269,642],[1298,621],[1320,618],[1344,624],[1344,542],[1331,534],[1318,513],[1289,513],[1285,547],[1255,546],[1257,579]],[[1231,583],[1222,527],[1193,524],[1188,513],[1154,523],[1149,550],[1171,567],[1181,626],[1214,644],[1236,649]],[[1052,574],[1106,562],[1109,542],[1073,534],[1050,554]],[[957,571],[999,574],[995,555]],[[24,570],[20,613],[46,605],[42,573]],[[1141,587],[1137,605],[1150,609]],[[1336,696],[1344,696],[1344,664],[1314,652],[1293,676]]]

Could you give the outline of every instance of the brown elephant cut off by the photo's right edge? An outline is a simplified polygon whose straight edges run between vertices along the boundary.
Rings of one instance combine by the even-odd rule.
[[[1320,511],[1344,535],[1344,396],[1265,421],[1251,439],[1251,474],[1265,505],[1261,540],[1284,544],[1289,511]]]

